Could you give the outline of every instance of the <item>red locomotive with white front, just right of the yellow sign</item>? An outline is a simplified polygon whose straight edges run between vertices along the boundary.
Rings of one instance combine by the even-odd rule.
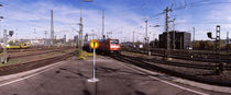
[[[97,51],[101,54],[120,54],[121,45],[119,39],[99,39],[99,48]]]

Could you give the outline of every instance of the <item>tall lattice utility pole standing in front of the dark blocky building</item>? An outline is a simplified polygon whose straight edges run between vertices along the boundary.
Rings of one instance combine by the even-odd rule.
[[[164,10],[166,13],[166,19],[165,19],[165,31],[167,33],[167,47],[166,47],[166,51],[165,51],[165,58],[168,58],[169,55],[169,32],[168,32],[168,23],[169,23],[169,16],[168,16],[168,12],[172,12],[172,9],[168,9],[168,7]]]

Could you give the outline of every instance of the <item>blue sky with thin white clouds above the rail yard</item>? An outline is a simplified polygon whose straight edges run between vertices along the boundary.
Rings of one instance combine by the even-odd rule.
[[[14,31],[12,38],[45,38],[51,32],[51,10],[54,12],[54,29],[57,38],[73,38],[79,29],[80,9],[84,35],[101,37],[102,10],[105,10],[105,34],[121,41],[143,41],[145,23],[148,21],[148,37],[158,38],[165,31],[166,7],[172,8],[169,29],[193,33],[196,39],[207,40],[207,32],[215,36],[216,26],[221,26],[221,38],[231,32],[231,0],[0,0],[0,37],[3,29]],[[160,25],[160,27],[153,27]],[[45,36],[45,32],[48,34]],[[231,33],[230,33],[231,34]]]

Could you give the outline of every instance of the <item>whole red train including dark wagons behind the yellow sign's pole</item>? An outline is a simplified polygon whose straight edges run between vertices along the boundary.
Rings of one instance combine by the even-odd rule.
[[[111,54],[120,54],[121,52],[121,44],[119,39],[98,39],[99,47],[96,49],[98,54],[101,55],[111,55]],[[84,49],[87,51],[92,51],[92,49],[89,47],[89,41],[87,41],[84,45]]]

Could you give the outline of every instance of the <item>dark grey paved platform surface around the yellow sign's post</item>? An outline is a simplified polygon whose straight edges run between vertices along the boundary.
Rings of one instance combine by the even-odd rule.
[[[92,76],[91,60],[70,60],[40,73],[1,82],[6,85],[0,84],[0,95],[229,95],[166,83],[160,75],[135,71],[108,57],[98,56],[96,63],[100,80],[97,83],[87,82]]]

